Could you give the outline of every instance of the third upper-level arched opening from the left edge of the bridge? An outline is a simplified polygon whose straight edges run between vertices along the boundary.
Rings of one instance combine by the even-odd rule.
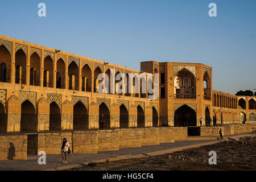
[[[30,56],[30,85],[40,86],[40,57],[36,52]]]

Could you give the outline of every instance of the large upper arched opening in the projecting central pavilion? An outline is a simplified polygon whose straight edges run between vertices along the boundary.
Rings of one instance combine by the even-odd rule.
[[[177,72],[174,81],[175,98],[196,98],[196,78],[188,69]]]

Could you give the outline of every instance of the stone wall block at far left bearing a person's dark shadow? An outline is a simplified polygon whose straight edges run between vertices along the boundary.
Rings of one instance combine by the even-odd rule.
[[[27,159],[27,136],[0,135],[0,160]]]

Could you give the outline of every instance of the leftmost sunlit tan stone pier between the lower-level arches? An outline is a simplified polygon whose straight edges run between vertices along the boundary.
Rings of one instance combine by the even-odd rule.
[[[7,101],[7,132],[20,131],[21,102],[18,97],[11,96]]]

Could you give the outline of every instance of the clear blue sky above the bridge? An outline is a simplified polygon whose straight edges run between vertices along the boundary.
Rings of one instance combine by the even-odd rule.
[[[212,2],[217,17],[208,15]],[[148,60],[203,63],[213,89],[256,89],[255,0],[0,0],[0,16],[0,34],[11,38],[133,69]]]

